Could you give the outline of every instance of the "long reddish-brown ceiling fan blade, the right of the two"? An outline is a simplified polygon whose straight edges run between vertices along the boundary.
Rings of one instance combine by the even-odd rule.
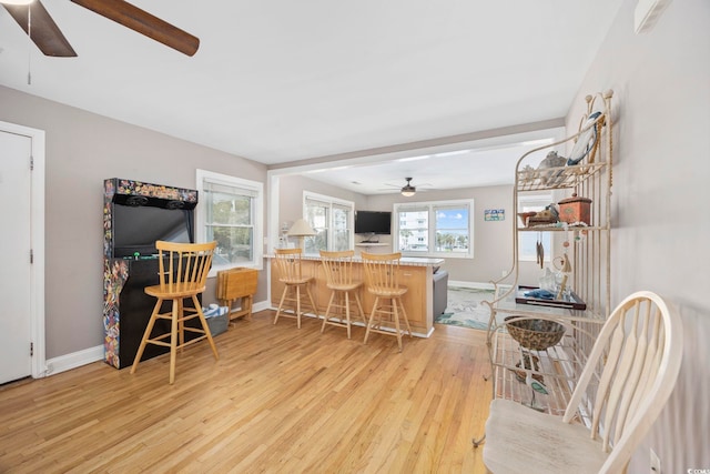
[[[123,0],[71,0],[183,54],[193,56],[200,39]]]

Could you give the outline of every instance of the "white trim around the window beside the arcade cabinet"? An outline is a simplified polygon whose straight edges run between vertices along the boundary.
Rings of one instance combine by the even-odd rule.
[[[243,188],[256,193],[254,198],[254,249],[253,261],[250,263],[241,263],[239,265],[217,265],[212,266],[209,276],[216,276],[217,271],[229,270],[235,266],[244,266],[248,269],[263,270],[264,269],[264,183],[258,181],[245,180],[243,178],[231,177],[229,174],[215,173],[206,170],[196,170],[196,190],[197,190],[197,212],[195,216],[195,235],[197,242],[206,241],[205,231],[205,215],[206,203],[200,200],[200,195],[204,195],[204,182],[205,180],[215,184],[224,184],[227,186]]]

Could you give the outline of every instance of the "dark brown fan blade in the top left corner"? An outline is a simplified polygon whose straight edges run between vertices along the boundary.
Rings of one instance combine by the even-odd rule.
[[[18,24],[24,30],[26,33],[30,30],[28,28],[28,8],[31,9],[31,32],[29,33],[32,42],[42,51],[44,56],[51,56],[55,58],[74,58],[77,52],[64,34],[61,32],[52,17],[40,2],[36,0],[29,6],[27,4],[2,4],[8,13]]]

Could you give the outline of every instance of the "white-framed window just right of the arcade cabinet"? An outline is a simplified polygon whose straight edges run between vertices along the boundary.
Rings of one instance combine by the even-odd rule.
[[[261,269],[264,185],[197,170],[197,241],[215,240],[210,276],[234,266]]]

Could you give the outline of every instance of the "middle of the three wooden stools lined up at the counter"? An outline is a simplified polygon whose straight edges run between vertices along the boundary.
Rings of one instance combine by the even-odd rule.
[[[325,271],[327,281],[326,286],[331,289],[331,300],[328,300],[328,307],[325,310],[321,332],[325,330],[326,324],[347,327],[347,339],[351,339],[351,304],[353,303],[353,297],[357,303],[358,314],[363,323],[365,326],[367,325],[365,312],[357,295],[357,291],[363,285],[363,282],[353,281],[354,254],[355,251],[353,250],[342,252],[321,251],[321,262],[323,263],[323,270]],[[339,310],[341,319],[329,319],[331,309],[333,309],[334,312]],[[343,313],[345,313],[345,322],[343,322]]]

